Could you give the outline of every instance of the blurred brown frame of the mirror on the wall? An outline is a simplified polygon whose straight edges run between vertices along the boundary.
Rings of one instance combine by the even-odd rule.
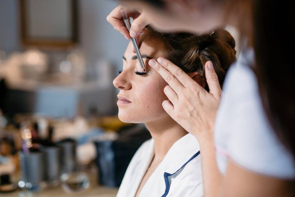
[[[70,39],[30,38],[27,32],[27,0],[19,0],[20,37],[23,46],[37,46],[41,48],[71,48],[78,44],[78,6],[77,0],[71,0],[72,37]]]

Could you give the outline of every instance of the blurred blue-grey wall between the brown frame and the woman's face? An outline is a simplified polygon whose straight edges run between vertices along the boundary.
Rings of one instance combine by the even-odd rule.
[[[107,22],[107,15],[117,6],[115,0],[80,0],[81,48],[90,61],[97,57],[110,60],[117,70],[128,40]]]

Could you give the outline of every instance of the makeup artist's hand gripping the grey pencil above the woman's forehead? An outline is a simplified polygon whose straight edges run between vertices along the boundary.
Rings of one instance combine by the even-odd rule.
[[[126,11],[126,14],[129,17],[133,18],[130,34],[124,24],[121,14],[121,10],[123,9]],[[112,12],[107,17],[107,21],[111,23],[115,30],[118,30],[121,34],[123,34],[126,39],[130,39],[130,36],[133,38],[138,38],[140,34],[145,32],[144,27],[149,24],[149,22],[146,21],[146,17],[144,17],[144,11],[128,10],[128,8],[125,8],[122,5],[119,5],[114,10],[112,10]]]

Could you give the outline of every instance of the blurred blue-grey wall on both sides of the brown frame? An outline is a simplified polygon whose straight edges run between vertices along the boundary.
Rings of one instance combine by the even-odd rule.
[[[115,65],[116,70],[120,70],[128,41],[106,20],[117,2],[78,0],[78,6],[80,48],[86,54],[88,66],[91,68],[98,58],[103,58]],[[0,50],[6,51],[8,55],[12,51],[22,50],[19,39],[18,0],[0,0]]]

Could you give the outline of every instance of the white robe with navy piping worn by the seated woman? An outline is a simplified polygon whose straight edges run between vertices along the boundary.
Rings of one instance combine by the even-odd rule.
[[[176,141],[145,183],[139,197],[203,196],[199,150],[199,143],[191,134]],[[154,140],[149,139],[141,145],[129,163],[117,197],[135,196],[154,154]]]

